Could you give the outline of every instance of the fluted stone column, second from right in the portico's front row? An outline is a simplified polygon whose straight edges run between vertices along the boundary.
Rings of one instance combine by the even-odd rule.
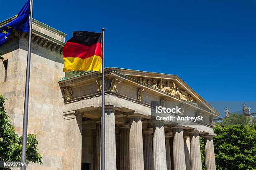
[[[191,170],[202,170],[199,132],[189,132]]]

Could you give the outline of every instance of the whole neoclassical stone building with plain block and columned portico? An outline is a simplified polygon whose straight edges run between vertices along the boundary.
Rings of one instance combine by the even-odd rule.
[[[10,18],[9,20],[11,20]],[[0,26],[9,20],[0,23]],[[36,134],[43,165],[29,170],[100,170],[101,75],[62,72],[65,34],[33,21],[28,133]],[[0,94],[22,133],[28,34],[14,32],[0,47]],[[177,75],[105,68],[107,170],[215,170],[213,118],[219,113]],[[179,106],[188,124],[153,121],[152,102]]]

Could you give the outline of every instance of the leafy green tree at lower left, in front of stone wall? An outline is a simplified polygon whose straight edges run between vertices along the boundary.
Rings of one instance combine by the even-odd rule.
[[[15,133],[13,125],[10,123],[9,116],[5,112],[5,100],[0,95],[0,161],[20,161],[22,137]],[[42,164],[42,156],[38,153],[38,141],[35,135],[27,136],[27,163]]]

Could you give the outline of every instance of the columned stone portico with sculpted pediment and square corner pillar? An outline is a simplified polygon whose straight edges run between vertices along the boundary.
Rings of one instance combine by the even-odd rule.
[[[100,77],[90,72],[59,81],[61,89],[70,89],[63,97],[72,95],[64,101],[63,161],[77,160],[64,169],[77,170],[83,163],[100,170]],[[200,170],[199,136],[205,139],[207,170],[216,169],[212,120],[219,113],[178,76],[106,68],[105,82],[106,170]],[[153,101],[181,107],[176,117],[204,119],[189,124],[153,120]]]

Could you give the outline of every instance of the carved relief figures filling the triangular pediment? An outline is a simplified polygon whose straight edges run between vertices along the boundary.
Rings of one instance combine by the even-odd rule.
[[[170,95],[179,97],[182,100],[191,102],[193,104],[197,104],[196,101],[192,98],[191,95],[185,90],[182,90],[182,88],[177,87],[176,83],[174,81],[169,80],[157,80],[155,78],[142,78],[138,77],[138,80],[146,85],[149,85],[157,90],[161,90],[163,92],[169,93]]]

